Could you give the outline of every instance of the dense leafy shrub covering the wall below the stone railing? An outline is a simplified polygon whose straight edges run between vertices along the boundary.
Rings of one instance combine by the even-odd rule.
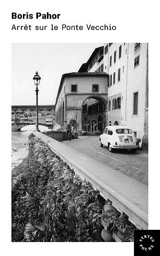
[[[13,242],[100,242],[103,199],[41,139],[12,176]]]

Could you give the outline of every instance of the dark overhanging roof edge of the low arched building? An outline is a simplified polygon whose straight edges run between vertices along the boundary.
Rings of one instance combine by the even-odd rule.
[[[62,74],[62,78],[60,81],[60,86],[57,93],[57,98],[55,101],[55,105],[57,104],[58,97],[62,88],[63,80],[66,77],[108,77],[108,74],[106,72],[72,72],[72,73],[66,73]]]

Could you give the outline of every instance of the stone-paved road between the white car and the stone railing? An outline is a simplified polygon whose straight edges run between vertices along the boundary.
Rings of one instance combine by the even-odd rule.
[[[111,153],[107,147],[100,147],[98,135],[81,136],[76,140],[62,141],[62,143],[148,185],[148,152],[146,150],[137,150],[134,154],[130,150],[117,150]]]

